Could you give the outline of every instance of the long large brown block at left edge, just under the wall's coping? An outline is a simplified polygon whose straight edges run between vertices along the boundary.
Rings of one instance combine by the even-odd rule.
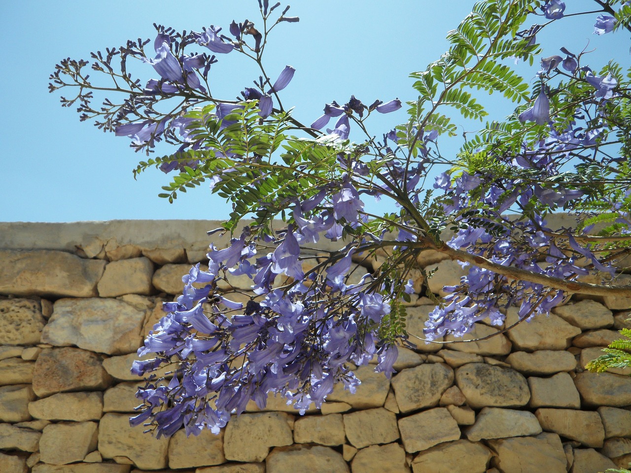
[[[105,261],[62,251],[0,250],[0,294],[93,297]]]

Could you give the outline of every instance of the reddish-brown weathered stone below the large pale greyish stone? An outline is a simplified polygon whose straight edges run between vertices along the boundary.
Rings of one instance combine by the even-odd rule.
[[[33,390],[39,397],[57,392],[102,390],[112,378],[101,358],[78,348],[47,348],[35,361]]]

